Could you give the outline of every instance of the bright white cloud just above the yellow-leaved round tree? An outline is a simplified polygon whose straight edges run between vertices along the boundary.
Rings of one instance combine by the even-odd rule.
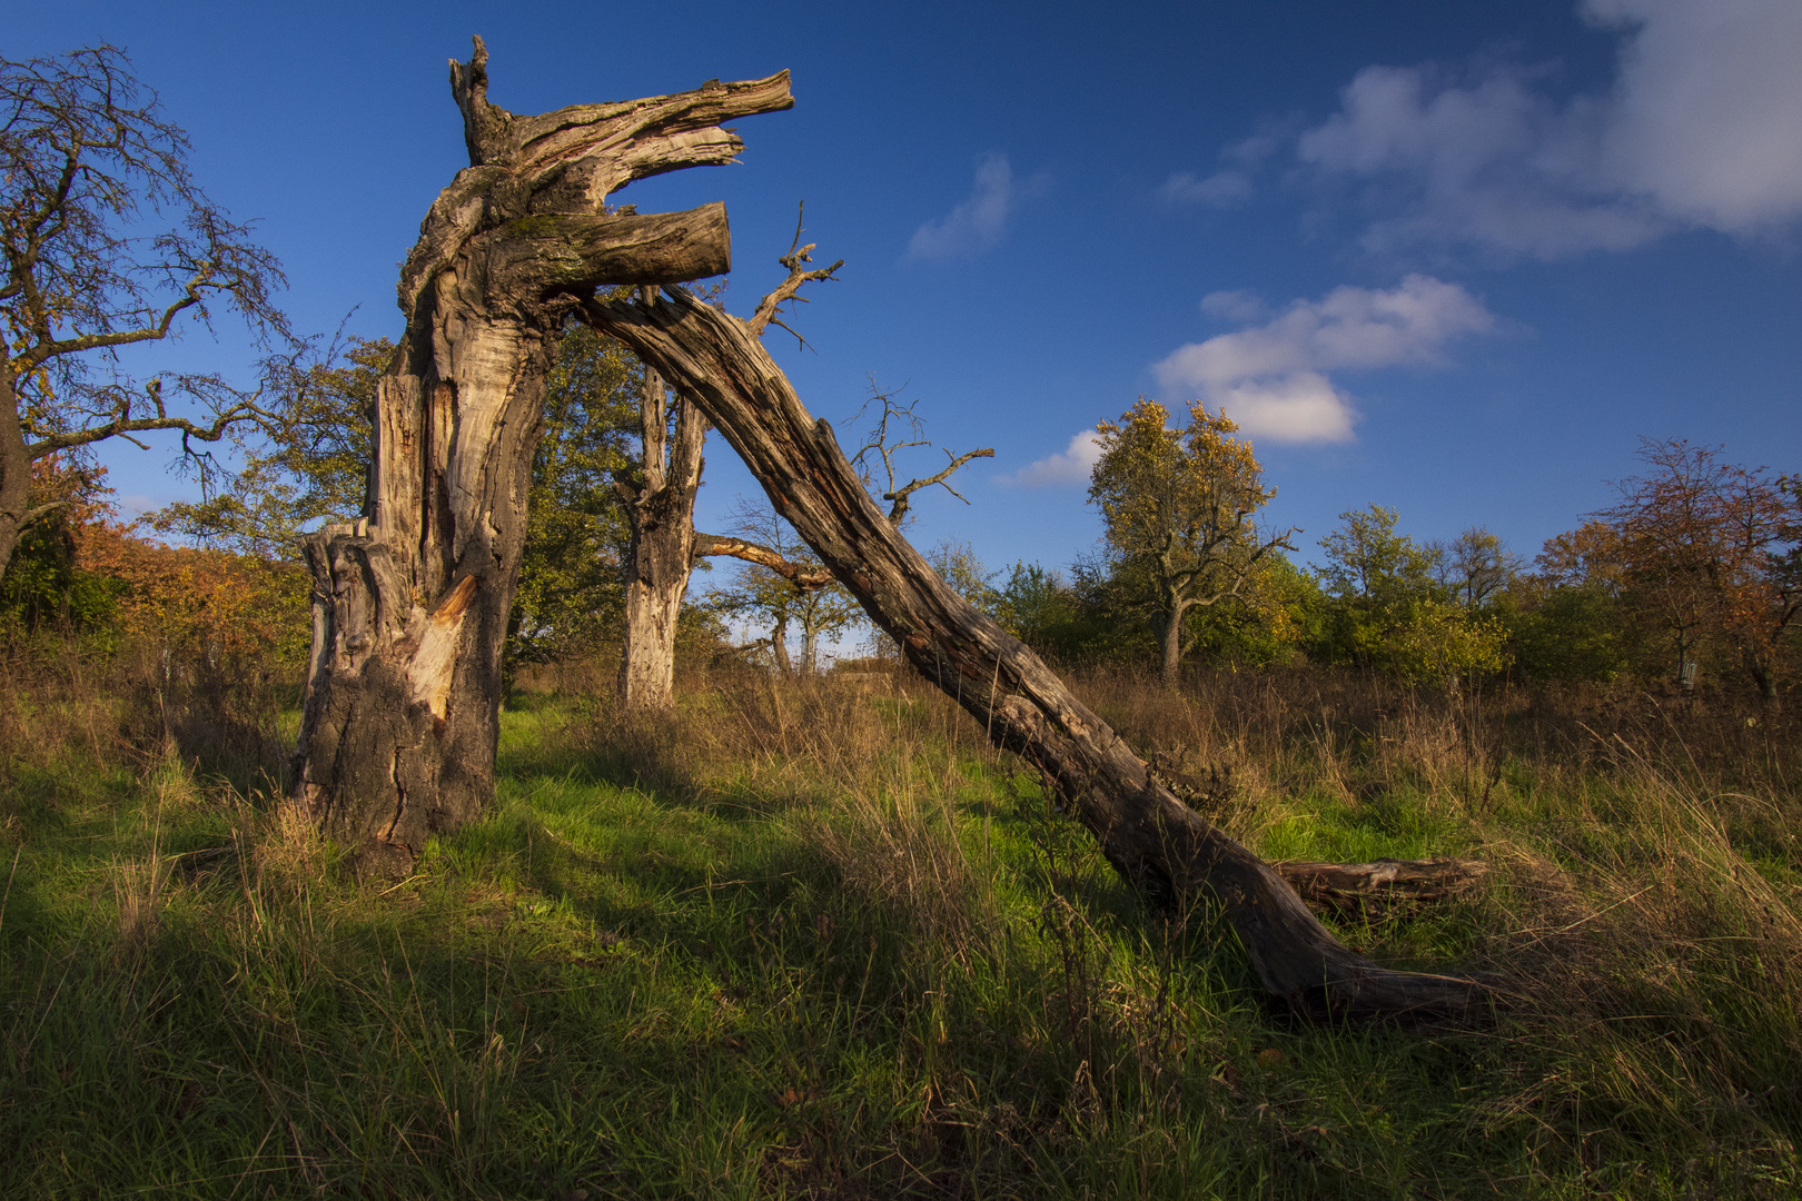
[[[1238,321],[1261,315],[1243,292],[1216,292],[1204,306]],[[1352,398],[1328,371],[1436,364],[1454,339],[1494,328],[1494,313],[1461,286],[1409,275],[1388,292],[1344,286],[1296,301],[1261,326],[1177,349],[1153,373],[1166,389],[1225,409],[1252,438],[1350,441]]]

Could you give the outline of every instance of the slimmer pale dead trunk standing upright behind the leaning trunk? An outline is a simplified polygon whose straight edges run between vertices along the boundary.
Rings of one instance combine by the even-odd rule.
[[[667,393],[658,373],[645,367],[640,430],[642,479],[620,484],[633,526],[620,700],[627,709],[667,709],[676,702],[676,619],[694,567],[694,497],[701,490],[706,420],[678,402],[676,438],[665,452]]]

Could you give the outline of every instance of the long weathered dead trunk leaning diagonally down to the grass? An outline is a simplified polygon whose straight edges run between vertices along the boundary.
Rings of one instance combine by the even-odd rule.
[[[591,303],[587,313],[701,407],[870,619],[997,745],[1045,772],[1121,875],[1216,897],[1274,996],[1312,1016],[1411,1019],[1470,1017],[1490,1003],[1478,981],[1386,971],[1353,954],[1267,862],[1184,807],[901,537],[746,322],[679,288],[651,304]]]

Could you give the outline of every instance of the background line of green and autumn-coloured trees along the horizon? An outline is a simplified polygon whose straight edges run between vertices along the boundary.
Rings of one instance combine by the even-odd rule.
[[[297,369],[290,441],[258,447],[232,486],[148,526],[216,549],[180,549],[121,526],[103,472],[36,465],[34,497],[61,501],[27,529],[0,580],[0,637],[130,639],[171,654],[305,664],[310,582],[303,529],[360,504],[368,414],[387,342]],[[593,333],[566,339],[533,465],[532,531],[510,623],[510,664],[611,654],[622,621],[625,522],[609,486],[629,472],[638,364]],[[1400,533],[1395,510],[1341,515],[1312,547],[1256,524],[1272,492],[1236,427],[1200,407],[1184,429],[1141,400],[1099,425],[1090,501],[1101,549],[1069,567],[984,565],[968,546],[930,558],[1024,643],[1060,663],[1260,668],[1353,666],[1406,682],[1613,681],[1737,686],[1777,700],[1802,677],[1802,486],[1685,441],[1643,443],[1640,475],[1528,560],[1485,528],[1451,542]],[[739,529],[816,565],[773,513],[741,504]],[[1317,558],[1319,565],[1301,560]],[[708,580],[726,583],[708,583]],[[726,650],[726,619],[813,646],[860,619],[836,585],[807,592],[757,567],[688,591],[683,654]],[[879,643],[881,639],[878,639]]]

